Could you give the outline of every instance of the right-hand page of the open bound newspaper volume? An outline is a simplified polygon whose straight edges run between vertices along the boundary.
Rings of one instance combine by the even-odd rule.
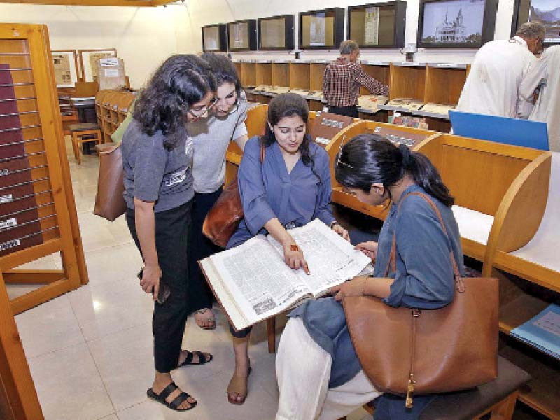
[[[302,283],[317,297],[332,286],[357,276],[372,261],[325,223],[315,219],[301,228],[290,230],[290,235],[303,251],[310,275],[297,270]],[[272,236],[267,239],[283,255],[281,245]]]

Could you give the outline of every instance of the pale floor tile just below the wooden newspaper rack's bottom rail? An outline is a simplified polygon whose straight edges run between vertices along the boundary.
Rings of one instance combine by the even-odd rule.
[[[15,316],[27,358],[84,342],[66,295]]]

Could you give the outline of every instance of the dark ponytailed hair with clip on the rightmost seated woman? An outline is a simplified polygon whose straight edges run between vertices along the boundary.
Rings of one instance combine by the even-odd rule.
[[[374,183],[383,184],[389,191],[406,172],[426,193],[447,207],[454,204],[454,197],[432,162],[404,144],[397,147],[377,134],[360,134],[344,144],[335,159],[336,180],[346,188],[359,188],[366,193]]]

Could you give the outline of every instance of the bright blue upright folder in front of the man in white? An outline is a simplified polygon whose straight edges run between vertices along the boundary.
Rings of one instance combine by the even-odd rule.
[[[550,150],[546,123],[461,111],[449,111],[449,118],[458,136]]]

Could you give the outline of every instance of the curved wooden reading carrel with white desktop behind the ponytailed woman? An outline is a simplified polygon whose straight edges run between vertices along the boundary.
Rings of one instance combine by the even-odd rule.
[[[463,228],[463,253],[484,261],[487,244],[496,246],[499,243],[503,251],[512,251],[533,237],[544,214],[548,184],[535,185],[526,172],[537,171],[542,172],[542,176],[549,176],[549,152],[449,134],[421,145],[419,151],[437,167],[455,197],[456,206],[461,208],[461,214],[472,219],[463,221],[457,217],[459,228]],[[535,200],[531,203],[519,202],[517,206],[526,209],[524,206],[530,205],[531,217],[521,216],[511,205],[503,208],[508,193],[516,195],[526,188],[533,189],[538,197],[533,197]],[[511,230],[503,231],[503,221],[496,218],[500,206],[500,219],[515,219],[514,235]],[[475,233],[471,235],[471,231]],[[507,235],[507,239],[500,240],[503,235]],[[485,241],[484,237],[488,239]]]

